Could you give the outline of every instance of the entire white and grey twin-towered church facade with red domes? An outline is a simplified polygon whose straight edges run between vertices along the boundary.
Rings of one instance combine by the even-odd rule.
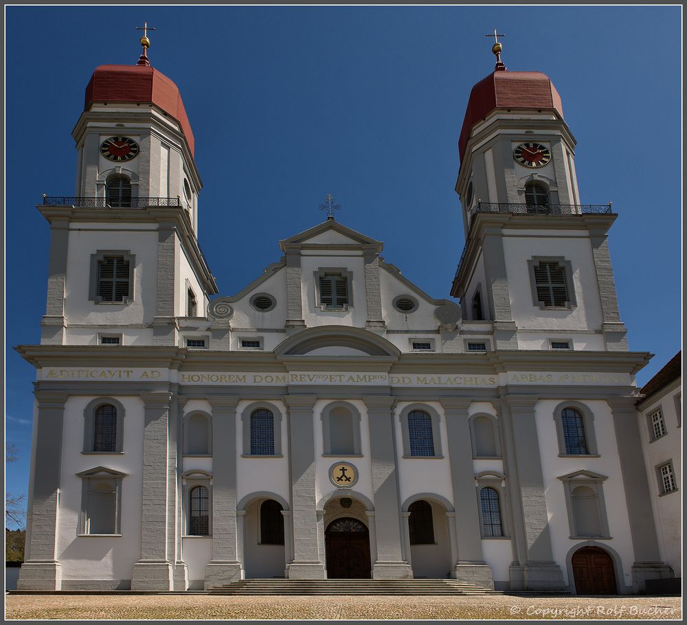
[[[649,354],[618,312],[617,215],[581,205],[546,76],[499,60],[471,93],[460,305],[333,216],[219,295],[192,130],[145,52],[95,69],[74,138],[76,196],[38,205],[41,344],[17,348],[36,367],[20,589],[673,576],[637,462]]]

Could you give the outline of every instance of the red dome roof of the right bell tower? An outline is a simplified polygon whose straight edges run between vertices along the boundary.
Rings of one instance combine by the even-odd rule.
[[[540,71],[494,71],[470,92],[458,139],[460,161],[473,126],[495,109],[552,110],[563,119],[561,96],[551,79]]]

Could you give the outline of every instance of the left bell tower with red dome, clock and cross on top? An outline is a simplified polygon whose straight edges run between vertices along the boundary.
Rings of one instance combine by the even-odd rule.
[[[135,65],[101,65],[88,83],[75,196],[38,206],[52,231],[42,343],[175,345],[216,293],[197,240],[193,133],[142,30]]]

